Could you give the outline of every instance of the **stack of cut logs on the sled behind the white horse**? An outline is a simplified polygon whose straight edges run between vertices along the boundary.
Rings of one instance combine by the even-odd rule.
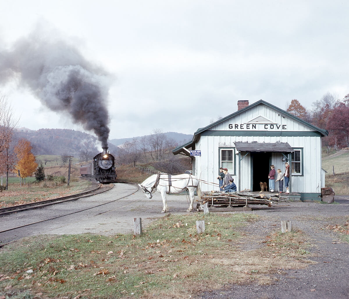
[[[234,206],[247,206],[247,205],[267,205],[271,206],[273,202],[276,201],[286,201],[284,198],[280,197],[280,193],[275,194],[255,194],[252,192],[221,192],[221,191],[211,191],[211,192],[201,192],[201,197],[197,201],[200,204],[223,206],[223,205],[234,205]]]

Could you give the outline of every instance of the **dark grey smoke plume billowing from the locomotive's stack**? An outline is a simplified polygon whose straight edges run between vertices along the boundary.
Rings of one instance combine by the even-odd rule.
[[[102,147],[107,147],[111,76],[74,46],[47,33],[17,40],[0,49],[0,83],[9,80],[29,88],[51,110],[69,113],[74,123],[94,131]]]

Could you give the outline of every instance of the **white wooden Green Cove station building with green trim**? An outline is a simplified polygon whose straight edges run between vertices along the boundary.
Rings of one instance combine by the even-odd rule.
[[[321,138],[327,135],[266,101],[238,101],[235,113],[198,129],[192,141],[172,152],[191,157],[202,191],[219,189],[211,183],[218,184],[220,167],[228,169],[238,191],[260,191],[260,182],[268,184],[270,165],[283,174],[289,162],[290,192],[300,200],[318,200],[325,187]]]

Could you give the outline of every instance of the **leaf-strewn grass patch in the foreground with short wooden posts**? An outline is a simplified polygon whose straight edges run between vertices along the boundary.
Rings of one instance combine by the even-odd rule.
[[[189,298],[227,283],[272,284],[306,267],[302,232],[273,231],[256,250],[240,233],[251,214],[166,215],[141,236],[35,236],[0,250],[0,295],[12,298]],[[283,270],[281,270],[283,269]],[[2,291],[1,291],[2,290]],[[25,297],[27,296],[27,297]],[[30,297],[29,297],[30,296]]]

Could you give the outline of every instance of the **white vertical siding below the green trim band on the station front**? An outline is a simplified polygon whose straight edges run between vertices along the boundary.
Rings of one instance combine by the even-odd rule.
[[[294,149],[300,149],[302,152],[302,174],[293,175],[292,191],[297,193],[320,193],[321,192],[321,138],[310,136],[294,137],[258,137],[255,136],[202,136],[196,144],[196,149],[201,150],[201,157],[196,157],[194,173],[205,183],[202,183],[201,190],[218,190],[218,168],[220,167],[220,148],[235,148],[236,141],[258,141],[259,143],[275,143],[276,141],[287,142]],[[276,140],[277,139],[277,140]],[[239,157],[235,152],[235,175],[234,182],[238,186]],[[243,152],[242,156],[246,153]],[[280,168],[282,173],[285,171],[283,155],[272,153],[272,164],[275,168]],[[250,154],[241,161],[241,189],[251,188],[251,158]],[[266,177],[267,181],[267,177]]]

